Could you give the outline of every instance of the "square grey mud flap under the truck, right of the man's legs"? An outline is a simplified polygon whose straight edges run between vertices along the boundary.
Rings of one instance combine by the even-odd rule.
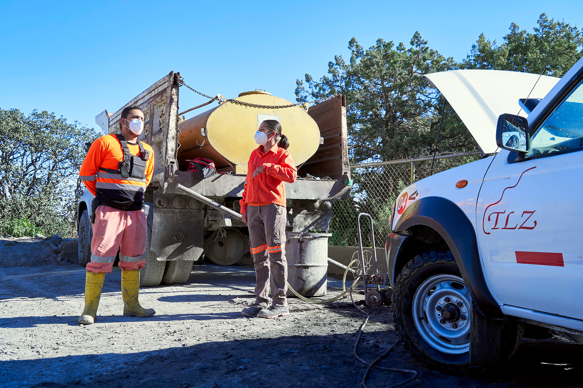
[[[198,260],[203,252],[204,211],[154,207],[152,244],[158,260]]]

